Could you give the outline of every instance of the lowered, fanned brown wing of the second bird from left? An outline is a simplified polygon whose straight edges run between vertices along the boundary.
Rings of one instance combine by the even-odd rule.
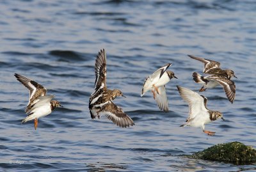
[[[106,115],[106,117],[113,121],[119,127],[129,127],[130,125],[134,125],[132,119],[122,111],[122,108],[116,106],[113,102],[102,106],[102,111],[100,112],[102,115]]]

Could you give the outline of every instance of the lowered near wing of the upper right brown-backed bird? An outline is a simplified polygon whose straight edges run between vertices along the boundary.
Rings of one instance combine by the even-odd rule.
[[[225,91],[225,94],[227,95],[228,100],[231,103],[234,102],[236,97],[235,82],[231,81],[230,79],[227,79],[227,77],[221,77],[218,75],[213,75],[208,78],[218,82],[223,87],[223,90]]]

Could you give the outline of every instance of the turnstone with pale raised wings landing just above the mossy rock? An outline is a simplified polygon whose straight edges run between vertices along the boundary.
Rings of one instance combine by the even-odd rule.
[[[200,127],[206,134],[211,136],[214,135],[215,132],[205,130],[205,124],[218,119],[224,120],[222,113],[207,109],[207,98],[203,95],[198,95],[198,93],[181,86],[177,86],[177,88],[180,96],[189,104],[189,117],[186,120],[186,123],[180,125],[180,127],[187,125],[191,127]]]

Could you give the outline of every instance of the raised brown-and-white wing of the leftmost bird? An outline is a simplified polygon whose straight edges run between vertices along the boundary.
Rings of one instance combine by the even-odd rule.
[[[44,86],[38,84],[38,82],[29,79],[28,77],[24,77],[19,74],[15,74],[15,77],[29,90],[29,102],[28,106],[25,109],[25,112],[27,112],[36,103],[38,97],[46,95],[47,90],[46,88],[44,88]]]

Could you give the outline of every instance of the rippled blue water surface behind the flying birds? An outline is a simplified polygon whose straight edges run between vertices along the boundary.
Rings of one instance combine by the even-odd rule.
[[[0,171],[255,171],[184,157],[217,143],[256,146],[255,1],[33,1],[0,2]],[[108,88],[136,123],[122,129],[106,118],[91,120],[88,98],[94,63],[106,49]],[[216,132],[179,126],[188,105],[176,85],[199,90],[191,77],[203,64],[194,54],[235,71],[236,100],[222,88],[207,90],[208,107],[226,121]],[[140,97],[147,75],[166,63],[179,79],[166,85],[169,113],[151,93]],[[43,84],[64,108],[21,124],[28,90],[14,73]]]

